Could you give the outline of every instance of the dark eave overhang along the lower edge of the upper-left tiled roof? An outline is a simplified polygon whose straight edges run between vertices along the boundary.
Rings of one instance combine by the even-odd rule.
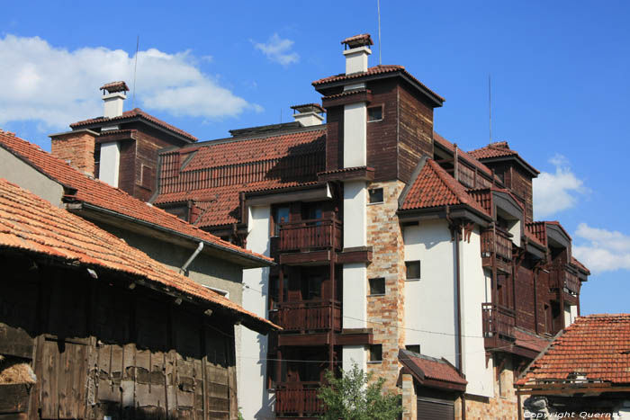
[[[243,268],[258,268],[275,265],[274,263],[256,255],[240,253],[227,246],[220,246],[220,244],[215,242],[209,242],[199,237],[185,235],[181,232],[177,232],[176,230],[157,225],[156,223],[132,218],[116,211],[94,206],[93,204],[85,201],[67,203],[66,209],[72,213],[78,214],[81,217],[85,217],[85,219],[90,219],[95,223],[105,223],[116,228],[122,228],[130,232],[138,233],[139,235],[164,240],[165,242],[174,245],[190,248],[191,251],[198,246],[200,242],[203,242],[202,254],[214,256],[216,258],[238,264]],[[182,264],[184,264],[184,262],[182,262]]]

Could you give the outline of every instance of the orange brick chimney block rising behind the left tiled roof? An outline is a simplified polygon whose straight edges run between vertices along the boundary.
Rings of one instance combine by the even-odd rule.
[[[51,134],[50,151],[83,174],[94,177],[94,140],[98,133],[76,130]]]

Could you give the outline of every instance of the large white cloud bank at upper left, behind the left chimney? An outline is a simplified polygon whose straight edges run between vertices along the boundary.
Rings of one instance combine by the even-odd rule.
[[[74,51],[39,37],[0,38],[0,124],[39,121],[47,130],[103,115],[98,87],[125,80],[132,87],[134,57],[103,47]],[[202,58],[208,60],[208,58]],[[202,73],[190,51],[139,51],[136,106],[174,115],[221,118],[260,107]],[[131,93],[125,108],[131,107]]]

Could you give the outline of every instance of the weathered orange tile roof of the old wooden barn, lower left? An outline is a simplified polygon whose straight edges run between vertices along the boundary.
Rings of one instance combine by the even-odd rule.
[[[0,179],[0,247],[47,255],[72,266],[130,274],[244,317],[257,331],[278,328],[220,294],[166,268],[94,224]]]

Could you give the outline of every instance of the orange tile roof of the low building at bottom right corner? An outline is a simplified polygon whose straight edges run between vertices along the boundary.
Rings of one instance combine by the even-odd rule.
[[[590,381],[630,384],[630,314],[578,317],[538,356],[517,383]]]

